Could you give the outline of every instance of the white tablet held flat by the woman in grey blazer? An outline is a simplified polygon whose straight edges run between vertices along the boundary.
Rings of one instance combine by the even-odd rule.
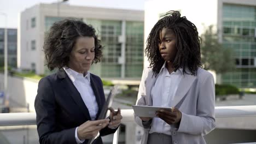
[[[132,109],[138,117],[156,117],[155,112],[159,109],[170,109],[170,111],[173,111],[173,107],[156,107],[146,105],[132,105]]]

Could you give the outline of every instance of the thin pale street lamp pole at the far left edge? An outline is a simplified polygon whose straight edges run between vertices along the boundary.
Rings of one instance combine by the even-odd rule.
[[[5,13],[0,13],[0,15],[4,15],[5,16],[5,28],[4,28],[4,95],[5,95],[5,102],[7,102],[7,105],[9,105],[9,98],[8,98],[8,94],[7,94],[7,78],[8,78],[8,49],[7,49],[7,14]]]

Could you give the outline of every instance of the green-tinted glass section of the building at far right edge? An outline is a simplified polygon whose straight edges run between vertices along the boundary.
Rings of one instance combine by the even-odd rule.
[[[223,4],[223,46],[235,51],[236,69],[222,83],[256,86],[256,7]]]

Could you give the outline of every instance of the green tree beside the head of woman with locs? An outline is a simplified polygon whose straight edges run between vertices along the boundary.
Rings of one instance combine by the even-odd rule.
[[[235,68],[234,51],[219,43],[218,35],[209,26],[201,35],[201,62],[206,70],[223,74]]]

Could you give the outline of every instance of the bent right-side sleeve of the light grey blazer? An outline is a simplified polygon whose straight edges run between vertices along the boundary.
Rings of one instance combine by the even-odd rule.
[[[214,116],[215,86],[212,74],[206,75],[200,86],[196,116],[182,112],[182,119],[178,128],[180,133],[206,135],[216,127]]]

